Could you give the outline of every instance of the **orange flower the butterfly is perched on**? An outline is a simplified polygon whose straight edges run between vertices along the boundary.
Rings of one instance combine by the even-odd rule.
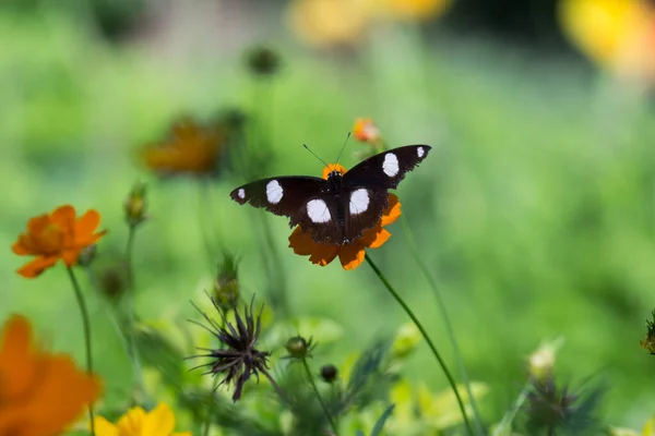
[[[332,171],[340,171],[342,174],[346,169],[338,164],[329,165],[323,169],[323,179]],[[301,256],[309,256],[309,262],[320,266],[325,266],[338,256],[344,269],[355,269],[362,262],[366,249],[379,249],[391,237],[391,233],[384,229],[401,216],[401,202],[394,194],[389,194],[389,206],[382,213],[380,221],[364,234],[346,245],[329,245],[317,243],[306,233],[300,226],[296,227],[289,237],[289,247],[294,253]]]

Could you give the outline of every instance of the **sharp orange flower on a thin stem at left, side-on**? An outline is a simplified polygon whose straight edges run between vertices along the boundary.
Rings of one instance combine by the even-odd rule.
[[[78,263],[80,252],[95,244],[106,233],[95,233],[100,222],[100,215],[96,210],[87,210],[79,219],[75,219],[75,208],[66,205],[27,222],[27,231],[11,247],[19,256],[36,256],[17,270],[21,276],[38,277],[59,259],[68,267],[73,266]]]

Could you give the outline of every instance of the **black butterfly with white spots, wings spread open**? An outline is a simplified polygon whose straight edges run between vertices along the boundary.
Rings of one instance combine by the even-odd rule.
[[[407,145],[372,156],[327,180],[306,175],[262,179],[234,190],[239,203],[263,207],[300,225],[315,242],[348,244],[374,227],[389,205],[390,189],[420,164],[432,147]]]

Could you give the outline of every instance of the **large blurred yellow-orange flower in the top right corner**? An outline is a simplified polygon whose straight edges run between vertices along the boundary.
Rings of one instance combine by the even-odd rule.
[[[653,78],[655,9],[642,0],[562,0],[564,34],[603,68]]]

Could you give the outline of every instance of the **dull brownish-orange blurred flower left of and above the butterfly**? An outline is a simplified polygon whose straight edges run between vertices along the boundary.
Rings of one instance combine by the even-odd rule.
[[[209,175],[215,172],[225,154],[226,131],[218,126],[202,126],[181,120],[170,130],[170,137],[142,150],[145,165],[167,174]]]

